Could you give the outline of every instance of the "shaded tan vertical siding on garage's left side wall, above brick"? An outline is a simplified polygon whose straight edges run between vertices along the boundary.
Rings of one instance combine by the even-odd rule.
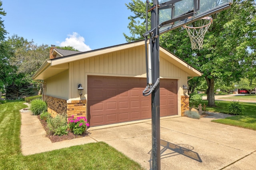
[[[46,95],[68,99],[68,74],[66,70],[46,79]]]

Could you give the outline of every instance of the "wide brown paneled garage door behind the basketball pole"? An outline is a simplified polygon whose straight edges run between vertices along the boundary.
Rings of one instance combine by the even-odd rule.
[[[145,97],[145,78],[88,76],[90,126],[151,118],[151,95]],[[177,80],[160,80],[160,116],[178,114]]]

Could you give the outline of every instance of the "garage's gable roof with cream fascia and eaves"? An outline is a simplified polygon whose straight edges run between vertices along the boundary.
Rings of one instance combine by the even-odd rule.
[[[32,79],[34,80],[44,80],[49,77],[52,77],[53,75],[56,75],[62,71],[65,71],[66,69],[69,68],[68,63],[74,62],[74,61],[79,61],[82,59],[94,57],[97,55],[103,55],[106,53],[111,53],[114,51],[120,51],[132,47],[137,47],[140,45],[145,45],[144,40],[136,41],[136,42],[130,42],[130,43],[124,43],[120,45],[114,45],[110,47],[105,47],[105,48],[100,48],[100,49],[95,49],[91,51],[85,51],[85,52],[80,52],[80,51],[75,51],[77,53],[72,53],[70,55],[63,55],[62,53],[64,51],[59,51],[59,49],[54,49],[54,51],[60,53],[62,57],[56,57],[54,59],[48,59],[46,60],[42,66],[36,71],[36,73],[33,75]],[[177,57],[176,55],[172,54],[170,51],[167,49],[164,49],[163,47],[160,47],[160,57],[163,57],[170,63],[176,65],[183,71],[188,73],[189,77],[199,77],[202,75],[200,71]],[[69,51],[69,50],[65,50]],[[62,52],[62,53],[61,53]],[[74,52],[74,51],[73,51]],[[68,53],[66,53],[68,54]]]

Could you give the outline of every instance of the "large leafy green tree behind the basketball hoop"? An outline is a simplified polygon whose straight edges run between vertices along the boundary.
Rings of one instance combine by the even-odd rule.
[[[139,3],[139,0],[136,2]],[[213,23],[204,37],[202,50],[191,49],[188,34],[182,27],[160,36],[160,45],[204,73],[208,86],[208,106],[215,106],[216,79],[223,79],[227,83],[240,79],[246,68],[242,61],[248,57],[245,49],[255,49],[255,3],[254,0],[234,0],[230,9],[213,14]],[[132,9],[132,12],[138,10]],[[137,27],[134,25],[132,29],[129,28],[130,32],[135,32]],[[133,34],[129,40],[132,38]]]

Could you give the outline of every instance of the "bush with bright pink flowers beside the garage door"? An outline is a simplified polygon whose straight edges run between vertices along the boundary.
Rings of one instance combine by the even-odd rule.
[[[86,127],[89,127],[86,117],[76,117],[74,115],[68,119],[68,127],[74,134],[82,134]]]

